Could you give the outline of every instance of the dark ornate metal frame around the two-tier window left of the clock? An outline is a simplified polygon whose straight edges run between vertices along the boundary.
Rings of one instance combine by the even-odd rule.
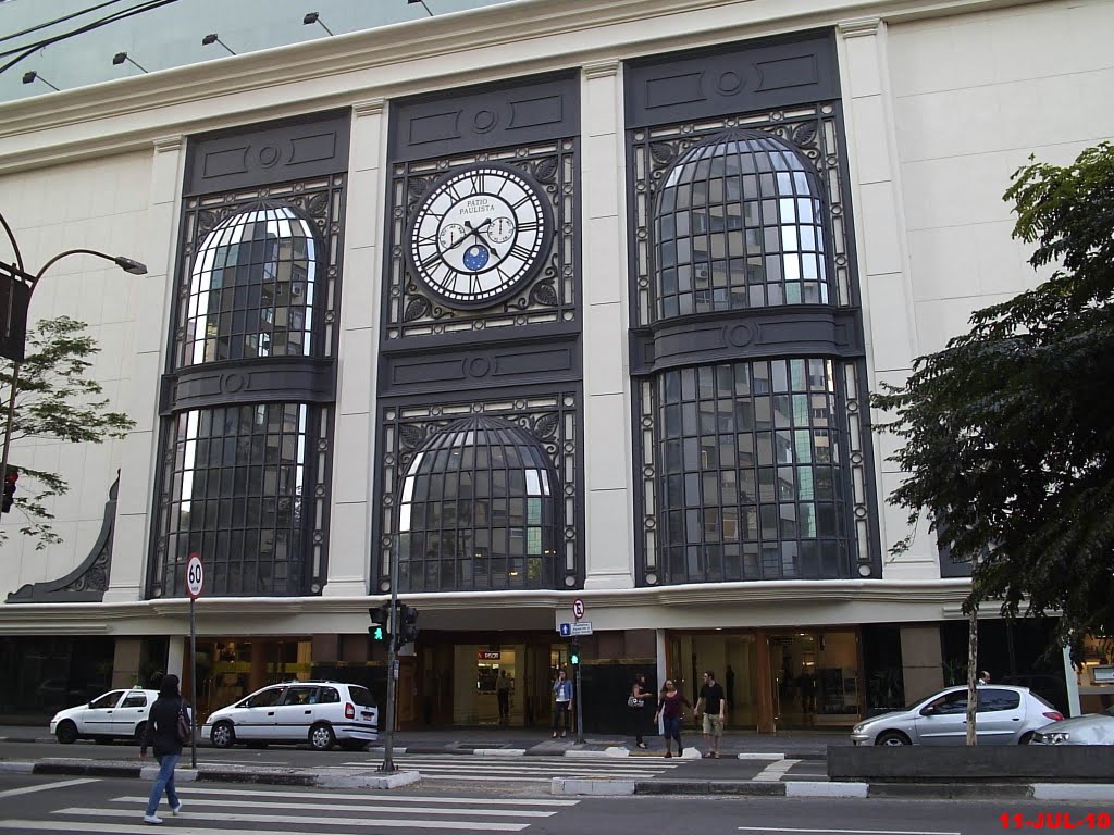
[[[175,305],[174,326],[167,350],[169,367],[163,383],[164,422],[160,431],[163,454],[156,474],[148,597],[174,597],[185,593],[184,561],[192,551],[201,553],[206,566],[213,567],[208,572],[212,584],[207,586],[211,589],[209,593],[214,596],[297,597],[320,593],[324,587],[328,576],[333,403],[335,355],[340,337],[338,325],[345,183],[346,177],[343,174],[322,174],[257,188],[192,195],[184,199],[176,271],[178,303]],[[316,288],[313,322],[313,355],[264,356],[176,367],[175,360],[182,355],[180,348],[186,344],[187,334],[183,316],[188,310],[193,262],[198,248],[218,224],[262,200],[292,206],[313,223],[320,238],[320,282]],[[222,562],[231,566],[232,561],[215,557],[213,548],[217,538],[225,534],[234,537],[238,531],[244,533],[245,541],[255,541],[254,538],[274,529],[262,524],[250,524],[246,514],[240,517],[245,520],[243,528],[225,527],[218,517],[217,525],[213,529],[206,527],[199,542],[190,542],[183,553],[169,551],[174,536],[169,515],[179,471],[176,449],[178,419],[189,412],[280,405],[296,406],[305,411],[305,438],[302,445],[305,479],[302,485],[301,518],[297,522],[297,536],[302,541],[302,564],[296,572],[287,573],[284,587],[276,584],[270,589],[258,589],[254,581],[245,583],[243,573],[238,582],[229,580],[225,573],[224,579],[227,582],[222,588],[218,584],[222,574],[217,566]],[[246,477],[243,483],[246,484]],[[233,490],[235,484],[234,475]],[[221,489],[223,491],[224,488]],[[227,494],[223,498],[233,500],[240,497]],[[261,510],[268,507],[262,495],[255,499],[263,505]],[[238,564],[242,571],[247,571],[247,566],[252,566],[254,571],[254,563],[251,560],[240,560]],[[257,576],[256,573],[255,577]]]

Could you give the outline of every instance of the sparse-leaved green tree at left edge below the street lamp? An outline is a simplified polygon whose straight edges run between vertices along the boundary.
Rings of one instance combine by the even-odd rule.
[[[86,376],[92,365],[89,357],[99,353],[86,325],[67,316],[43,320],[28,331],[27,357],[20,365],[12,420],[13,451],[9,468],[19,469],[19,492],[12,513],[20,513],[19,532],[36,540],[36,548],[60,542],[50,520],[47,502],[69,490],[58,473],[35,470],[19,459],[14,442],[56,439],[71,443],[101,443],[108,438],[124,438],[135,423],[123,412],[108,411],[101,385]],[[4,361],[0,383],[11,392],[12,365]],[[0,423],[0,431],[3,424]],[[27,492],[25,492],[27,491]],[[7,533],[0,530],[0,542]]]

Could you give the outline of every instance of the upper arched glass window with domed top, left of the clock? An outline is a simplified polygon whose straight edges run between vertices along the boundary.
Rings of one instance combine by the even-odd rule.
[[[194,257],[178,365],[309,356],[322,253],[292,206],[260,202],[222,220]]]

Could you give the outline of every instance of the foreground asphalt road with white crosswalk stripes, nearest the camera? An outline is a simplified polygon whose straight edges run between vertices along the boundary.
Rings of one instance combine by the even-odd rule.
[[[137,779],[47,778],[0,774],[0,835],[9,833],[148,833],[141,822],[150,784]],[[1069,816],[1076,828],[1110,831],[1087,804],[886,799],[714,797],[555,798],[498,786],[353,792],[184,784],[183,814],[164,829],[222,832],[369,833],[527,832],[528,835],[614,835],[664,832],[700,835],[983,835],[1023,822]],[[1003,815],[1008,816],[1003,822]],[[1061,817],[1054,817],[1059,815]],[[1087,827],[1093,815],[1093,827]],[[1017,816],[1017,817],[1015,817]],[[1082,825],[1081,825],[1082,824]],[[1047,825],[1047,824],[1046,824]],[[1032,826],[1024,826],[1032,828]],[[1059,828],[1063,828],[1061,826]]]

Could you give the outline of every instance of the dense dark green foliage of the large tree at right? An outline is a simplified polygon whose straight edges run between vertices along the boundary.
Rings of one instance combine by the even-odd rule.
[[[927,511],[954,559],[979,558],[968,611],[1000,601],[1007,617],[1061,615],[1064,642],[1112,636],[1114,147],[1063,167],[1030,157],[1004,199],[1029,264],[1053,273],[871,399],[905,444],[889,501],[911,525]]]

